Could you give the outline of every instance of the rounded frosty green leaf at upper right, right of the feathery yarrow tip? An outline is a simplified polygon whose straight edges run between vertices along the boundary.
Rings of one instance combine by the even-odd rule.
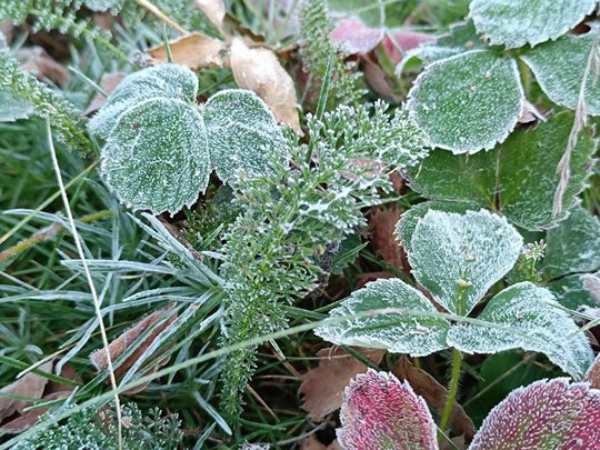
[[[432,146],[476,153],[508,137],[523,102],[517,62],[472,50],[429,64],[409,92],[408,108]]]

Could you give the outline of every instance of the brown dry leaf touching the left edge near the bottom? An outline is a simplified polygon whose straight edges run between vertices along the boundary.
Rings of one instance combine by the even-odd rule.
[[[43,372],[50,372],[52,370],[52,361],[48,361],[47,363],[41,364],[38,369]],[[14,412],[21,413],[23,408],[33,404],[33,400],[38,400],[42,397],[43,388],[46,387],[47,382],[47,378],[33,372],[29,372],[17,381],[0,389],[0,393],[2,393],[2,397],[0,397],[0,421],[12,416]],[[10,397],[4,397],[4,394],[27,397],[32,399],[32,401],[16,400]]]

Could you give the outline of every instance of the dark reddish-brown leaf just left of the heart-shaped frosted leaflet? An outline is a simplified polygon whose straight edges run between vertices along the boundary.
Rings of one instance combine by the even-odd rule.
[[[372,207],[369,218],[371,247],[374,252],[394,268],[402,269],[402,252],[396,242],[393,230],[400,219],[400,210],[392,204],[391,208]]]

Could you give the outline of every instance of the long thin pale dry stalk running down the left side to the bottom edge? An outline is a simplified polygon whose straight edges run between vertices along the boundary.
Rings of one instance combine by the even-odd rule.
[[[93,280],[91,278],[90,269],[88,267],[88,260],[86,259],[86,254],[83,254],[83,247],[81,246],[79,232],[77,231],[73,213],[71,212],[71,207],[69,204],[69,198],[67,197],[67,190],[64,188],[64,183],[62,182],[62,176],[60,174],[60,166],[57,159],[57,151],[54,149],[54,143],[52,142],[52,130],[50,128],[50,120],[48,118],[46,119],[46,129],[48,131],[48,146],[50,148],[50,156],[52,157],[52,166],[57,173],[57,181],[59,184],[60,194],[62,197],[62,202],[64,203],[64,210],[67,212],[67,217],[69,218],[69,227],[71,228],[71,232],[73,234],[73,240],[77,247],[77,251],[79,253],[79,258],[81,259],[83,271],[86,272],[86,278],[88,279],[90,293],[93,299],[93,309],[98,318],[100,334],[102,336],[102,344],[104,346],[104,350],[107,352],[107,362],[108,362],[108,369],[109,369],[109,376],[110,376],[110,383],[114,392],[114,408],[117,409],[117,433],[118,433],[118,439],[119,439],[119,450],[122,450],[123,443],[122,443],[122,424],[121,424],[121,403],[119,401],[119,394],[117,390],[117,379],[114,378],[114,370],[112,368],[112,359],[109,352],[107,330],[104,328],[104,322],[102,321],[102,311],[100,309],[100,300],[98,299],[98,293],[96,292],[96,286],[93,284]]]

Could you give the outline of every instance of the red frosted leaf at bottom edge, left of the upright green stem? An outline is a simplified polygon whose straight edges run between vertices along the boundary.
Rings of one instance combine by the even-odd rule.
[[[438,450],[436,423],[409,383],[369,369],[346,388],[338,440],[348,450]]]

